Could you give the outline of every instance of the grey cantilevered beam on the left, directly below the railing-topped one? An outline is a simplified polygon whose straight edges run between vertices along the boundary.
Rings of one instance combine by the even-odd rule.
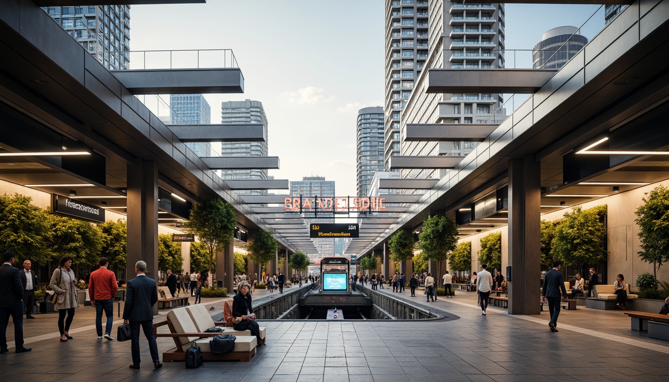
[[[260,123],[168,124],[182,142],[267,142]]]

